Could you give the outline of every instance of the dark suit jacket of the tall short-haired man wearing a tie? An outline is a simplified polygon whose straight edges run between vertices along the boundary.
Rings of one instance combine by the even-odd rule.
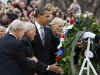
[[[44,28],[45,32],[45,44],[42,45],[39,32],[36,28],[36,36],[34,41],[32,41],[32,46],[34,49],[35,56],[39,59],[40,62],[43,62],[46,65],[54,64],[56,59],[57,45],[59,44],[58,39],[52,34],[52,31],[49,27]],[[41,74],[43,75],[43,74]],[[46,75],[46,74],[44,74]]]

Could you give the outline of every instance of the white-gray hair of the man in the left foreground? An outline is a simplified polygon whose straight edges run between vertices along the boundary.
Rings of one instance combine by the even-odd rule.
[[[7,32],[15,32],[16,30],[25,30],[25,23],[19,19],[14,20],[7,28]]]

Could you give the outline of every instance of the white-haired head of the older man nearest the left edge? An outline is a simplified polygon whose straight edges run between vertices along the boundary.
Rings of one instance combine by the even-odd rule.
[[[23,37],[25,30],[26,30],[26,26],[24,25],[24,22],[20,21],[20,20],[14,20],[9,26],[8,26],[8,31],[9,34],[14,35],[18,40],[21,40],[21,38]]]

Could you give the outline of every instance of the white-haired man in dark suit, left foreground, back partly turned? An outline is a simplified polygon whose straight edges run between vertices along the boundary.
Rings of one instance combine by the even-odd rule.
[[[22,75],[19,65],[25,61],[23,46],[20,42],[25,25],[19,20],[11,23],[11,31],[0,39],[0,74]]]

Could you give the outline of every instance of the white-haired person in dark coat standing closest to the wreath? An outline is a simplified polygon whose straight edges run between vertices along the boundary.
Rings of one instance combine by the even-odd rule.
[[[55,59],[56,59],[56,53],[58,51],[58,45],[60,43],[60,37],[61,37],[61,34],[63,33],[63,28],[64,28],[64,20],[61,19],[61,18],[58,18],[58,17],[55,17],[51,23],[50,23],[50,27],[52,29],[52,33],[53,33],[53,41],[55,41],[55,43],[53,43],[52,45],[52,55],[51,55],[51,59],[53,60],[53,62],[55,62]],[[55,49],[54,49],[55,48]],[[55,51],[55,52],[54,52]]]

